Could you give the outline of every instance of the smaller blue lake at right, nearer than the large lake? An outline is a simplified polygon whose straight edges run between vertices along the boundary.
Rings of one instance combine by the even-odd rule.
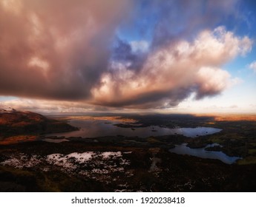
[[[206,147],[210,146],[213,145],[208,145]],[[169,152],[174,152],[178,155],[192,155],[201,158],[217,159],[226,164],[235,163],[236,160],[240,159],[240,157],[229,157],[223,152],[206,151],[206,148],[191,149],[187,146],[187,143],[175,146],[174,149],[170,149]]]

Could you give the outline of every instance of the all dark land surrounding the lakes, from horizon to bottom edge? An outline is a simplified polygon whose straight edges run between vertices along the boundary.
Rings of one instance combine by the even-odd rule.
[[[148,138],[102,136],[65,138],[65,142],[49,143],[43,141],[45,137],[41,139],[42,133],[76,128],[32,112],[5,113],[1,115],[1,127],[5,127],[1,129],[6,131],[5,143],[0,143],[0,191],[256,190],[255,120],[217,120],[212,116],[197,118],[191,115],[186,115],[185,119],[178,115],[124,117],[128,122],[123,124],[135,130],[140,125],[177,127],[191,126],[190,123],[192,126],[214,126],[223,130],[197,138],[183,135]],[[137,121],[131,123],[131,120]],[[22,129],[22,126],[27,126],[27,129]],[[16,127],[20,131],[16,131]],[[34,135],[37,138],[7,142],[16,135]],[[181,143],[188,143],[191,148],[219,143],[222,147],[212,146],[208,150],[239,155],[243,160],[227,165],[220,160],[169,152]]]

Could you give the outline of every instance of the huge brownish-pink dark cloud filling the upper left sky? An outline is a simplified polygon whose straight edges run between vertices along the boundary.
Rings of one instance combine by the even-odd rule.
[[[129,1],[0,2],[0,94],[80,100],[107,69]]]

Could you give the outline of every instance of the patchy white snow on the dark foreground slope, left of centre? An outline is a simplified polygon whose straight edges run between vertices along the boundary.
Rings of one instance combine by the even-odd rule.
[[[96,180],[107,178],[111,180],[111,173],[125,173],[125,166],[130,163],[130,160],[122,157],[122,152],[73,152],[68,155],[55,153],[44,157],[25,154],[11,155],[9,159],[0,164],[19,169],[37,167],[42,172],[49,172],[54,168],[68,174],[81,174]]]

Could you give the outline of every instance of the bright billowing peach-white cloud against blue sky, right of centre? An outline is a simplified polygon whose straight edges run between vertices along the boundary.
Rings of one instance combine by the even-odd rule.
[[[92,89],[92,104],[155,108],[177,106],[191,93],[218,95],[237,79],[220,66],[251,50],[252,41],[224,27],[203,30],[194,41],[177,41],[151,52],[140,71],[112,64]]]

